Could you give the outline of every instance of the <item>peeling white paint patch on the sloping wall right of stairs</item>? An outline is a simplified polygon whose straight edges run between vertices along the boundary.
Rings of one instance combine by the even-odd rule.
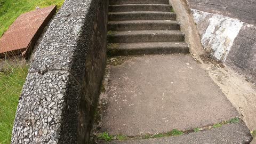
[[[201,43],[204,49],[212,50],[212,56],[224,62],[233,45],[234,39],[238,35],[243,22],[223,15],[212,14],[203,11],[193,10],[193,15],[197,25],[202,22],[209,22],[203,27],[204,33],[201,35]],[[202,30],[202,27],[200,27]]]

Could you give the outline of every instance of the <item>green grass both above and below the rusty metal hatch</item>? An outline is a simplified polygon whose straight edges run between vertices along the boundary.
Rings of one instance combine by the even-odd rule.
[[[57,5],[65,0],[0,0],[0,37],[20,14]],[[6,62],[7,63],[7,62]],[[25,82],[28,66],[8,66],[5,73],[0,72],[0,144],[10,143],[19,95]]]

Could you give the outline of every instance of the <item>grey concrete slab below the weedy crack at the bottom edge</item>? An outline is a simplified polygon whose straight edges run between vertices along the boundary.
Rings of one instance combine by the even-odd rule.
[[[183,143],[249,143],[251,141],[250,131],[244,123],[228,124],[209,131],[190,133],[180,137],[165,137],[143,140],[111,141],[112,144],[183,144]]]

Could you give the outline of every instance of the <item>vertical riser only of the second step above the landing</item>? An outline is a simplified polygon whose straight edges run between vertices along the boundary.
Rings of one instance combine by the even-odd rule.
[[[109,43],[139,43],[139,42],[174,42],[184,41],[183,35],[125,35],[125,36],[108,36]]]

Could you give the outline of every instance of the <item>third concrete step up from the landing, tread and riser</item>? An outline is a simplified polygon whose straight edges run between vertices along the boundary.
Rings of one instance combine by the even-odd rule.
[[[179,30],[178,21],[173,20],[131,20],[131,21],[109,21],[108,30]]]

